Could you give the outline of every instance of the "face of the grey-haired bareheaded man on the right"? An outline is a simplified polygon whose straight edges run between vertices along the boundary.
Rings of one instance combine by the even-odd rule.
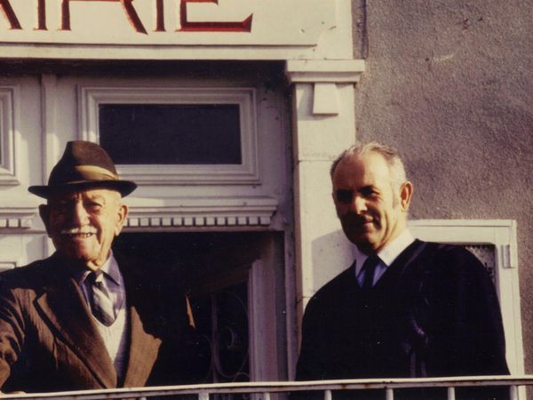
[[[412,185],[405,182],[394,190],[383,156],[367,152],[348,156],[332,178],[333,201],[346,237],[362,252],[378,252],[402,233]]]

